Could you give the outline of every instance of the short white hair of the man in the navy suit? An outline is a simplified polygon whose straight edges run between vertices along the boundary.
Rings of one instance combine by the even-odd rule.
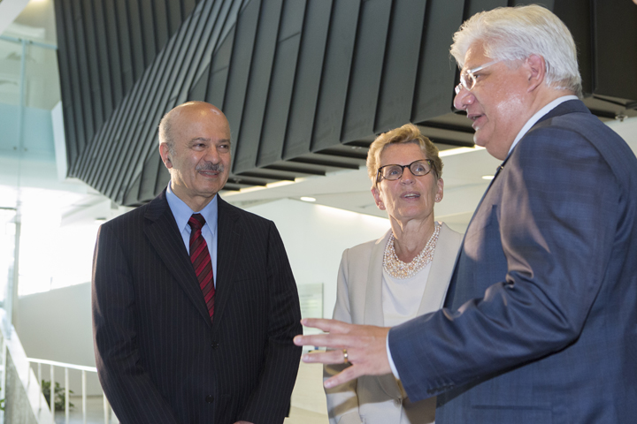
[[[482,42],[491,59],[525,60],[544,57],[546,82],[555,89],[570,90],[581,97],[577,49],[572,34],[553,12],[531,4],[481,11],[464,21],[453,36],[451,55],[464,67],[464,56],[476,42]]]

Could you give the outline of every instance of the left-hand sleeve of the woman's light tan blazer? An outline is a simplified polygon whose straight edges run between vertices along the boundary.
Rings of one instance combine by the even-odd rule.
[[[348,291],[348,250],[342,254],[336,285],[336,305],[334,306],[334,320],[352,323],[349,311]],[[325,365],[323,380],[340,373],[345,364]],[[358,413],[357,380],[352,380],[332,389],[326,389],[327,413],[330,424],[362,424]]]

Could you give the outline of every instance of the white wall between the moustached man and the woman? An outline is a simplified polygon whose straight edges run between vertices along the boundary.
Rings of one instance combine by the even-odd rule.
[[[379,239],[389,229],[385,218],[289,199],[246,210],[276,223],[296,284],[324,284],[326,318],[331,318],[334,311],[336,276],[343,250]]]

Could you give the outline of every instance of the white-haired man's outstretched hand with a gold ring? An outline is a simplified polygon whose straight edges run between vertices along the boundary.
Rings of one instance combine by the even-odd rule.
[[[303,355],[303,362],[323,364],[342,364],[347,359],[352,364],[341,373],[327,379],[327,389],[349,382],[361,375],[385,375],[391,373],[387,356],[386,340],[389,327],[355,325],[335,320],[304,318],[301,323],[306,327],[322,329],[329,334],[296,336],[295,345],[326,346],[335,350],[311,352]]]

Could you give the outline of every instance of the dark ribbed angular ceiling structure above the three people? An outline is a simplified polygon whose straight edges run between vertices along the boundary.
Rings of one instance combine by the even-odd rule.
[[[452,112],[451,35],[520,0],[57,0],[69,176],[119,204],[168,182],[157,125],[177,104],[226,113],[226,190],[365,164],[376,133],[411,120],[440,148],[472,146]],[[637,8],[549,0],[578,44],[585,102],[636,116]],[[620,24],[618,24],[618,22]]]

